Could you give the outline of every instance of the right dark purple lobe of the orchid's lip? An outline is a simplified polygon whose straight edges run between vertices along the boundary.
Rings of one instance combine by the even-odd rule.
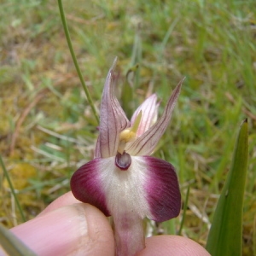
[[[143,156],[143,159],[150,177],[144,185],[150,209],[147,217],[158,222],[177,217],[181,209],[181,195],[174,167],[154,157]]]

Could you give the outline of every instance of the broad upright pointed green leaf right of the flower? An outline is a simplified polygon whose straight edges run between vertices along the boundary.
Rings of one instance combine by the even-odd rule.
[[[207,239],[212,256],[241,255],[242,209],[247,174],[247,119],[241,124],[233,161]]]

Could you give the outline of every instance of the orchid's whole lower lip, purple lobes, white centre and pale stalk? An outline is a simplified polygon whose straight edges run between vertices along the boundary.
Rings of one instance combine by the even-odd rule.
[[[144,247],[143,218],[177,217],[181,195],[174,167],[150,156],[131,156],[124,172],[115,157],[96,158],[73,174],[73,195],[113,215],[117,255],[134,255]]]

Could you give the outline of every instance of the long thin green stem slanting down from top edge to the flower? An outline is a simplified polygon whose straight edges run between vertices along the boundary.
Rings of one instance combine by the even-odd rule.
[[[65,35],[66,35],[66,38],[67,38],[68,48],[69,48],[70,53],[71,53],[72,58],[73,58],[73,64],[76,67],[77,73],[79,74],[79,79],[80,79],[80,82],[81,82],[81,84],[84,88],[84,92],[85,92],[87,100],[90,104],[90,108],[92,109],[92,112],[93,112],[93,114],[94,114],[94,116],[97,120],[97,123],[99,123],[99,117],[98,117],[98,114],[96,113],[96,108],[95,108],[95,106],[94,106],[94,104],[91,100],[90,92],[89,92],[89,90],[88,90],[88,88],[85,84],[83,75],[82,75],[80,67],[79,67],[79,62],[78,62],[78,60],[76,58],[76,55],[74,54],[74,51],[73,51],[73,45],[72,45],[72,42],[71,42],[71,39],[70,39],[70,35],[69,35],[68,27],[67,27],[67,20],[66,20],[66,17],[65,17],[62,1],[58,0],[58,4],[59,4],[59,9],[60,9],[60,14],[61,14],[62,25],[64,27],[64,32],[65,32]]]

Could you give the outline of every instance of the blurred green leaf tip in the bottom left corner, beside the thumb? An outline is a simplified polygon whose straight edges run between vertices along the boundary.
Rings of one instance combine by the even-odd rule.
[[[36,256],[31,249],[20,241],[12,232],[0,224],[0,244],[8,255],[12,256]],[[0,251],[1,253],[1,251]]]

